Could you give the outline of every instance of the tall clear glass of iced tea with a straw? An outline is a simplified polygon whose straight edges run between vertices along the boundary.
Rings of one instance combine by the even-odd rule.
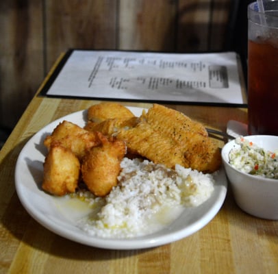
[[[249,134],[278,135],[278,1],[248,7]]]

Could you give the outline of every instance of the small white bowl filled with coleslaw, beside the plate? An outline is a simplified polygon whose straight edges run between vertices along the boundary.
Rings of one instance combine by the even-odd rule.
[[[238,206],[278,220],[278,136],[238,137],[227,142],[221,156]]]

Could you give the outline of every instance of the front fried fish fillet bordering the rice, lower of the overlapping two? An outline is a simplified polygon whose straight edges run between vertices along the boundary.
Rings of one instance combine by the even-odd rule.
[[[153,129],[147,122],[121,131],[116,136],[124,140],[129,153],[139,154],[155,164],[165,164],[175,169],[175,164],[203,172],[214,172],[220,166],[218,147],[206,136],[188,132],[181,143]]]

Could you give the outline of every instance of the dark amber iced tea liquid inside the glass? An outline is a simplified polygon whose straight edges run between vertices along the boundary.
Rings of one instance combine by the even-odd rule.
[[[249,134],[278,135],[278,42],[249,40]]]

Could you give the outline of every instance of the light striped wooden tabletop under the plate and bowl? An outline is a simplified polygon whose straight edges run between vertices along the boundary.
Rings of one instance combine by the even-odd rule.
[[[57,236],[27,214],[16,195],[18,153],[39,129],[99,101],[35,96],[0,153],[0,273],[278,273],[278,222],[249,216],[228,189],[220,212],[199,232],[151,249],[97,249]],[[147,103],[123,103],[149,108]],[[247,123],[244,108],[168,105],[207,126]],[[219,142],[223,146],[223,142]]]

